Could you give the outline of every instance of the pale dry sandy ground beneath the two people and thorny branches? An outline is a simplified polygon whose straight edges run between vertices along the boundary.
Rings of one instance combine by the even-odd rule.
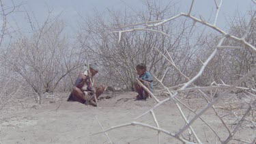
[[[104,129],[126,124],[134,121],[134,118],[149,110],[156,104],[153,98],[149,100],[135,101],[134,92],[106,92],[102,98],[111,96],[109,99],[99,100],[98,107],[86,106],[78,102],[66,102],[68,93],[49,95],[43,104],[38,105],[27,98],[17,102],[10,102],[0,113],[0,143],[109,143],[106,135],[96,134],[102,131],[96,121],[96,117]],[[166,96],[158,96],[160,100]],[[205,106],[205,100],[199,96],[180,96],[180,100],[199,111]],[[236,109],[238,102],[231,96],[220,100],[216,106]],[[233,106],[233,107],[232,107]],[[193,117],[184,106],[186,117]],[[227,109],[218,109],[223,115]],[[244,111],[240,109],[240,113]],[[177,132],[184,126],[184,120],[174,102],[166,102],[155,111],[159,126],[171,133]],[[239,111],[237,111],[238,113]],[[239,113],[238,113],[239,115]],[[96,116],[96,117],[95,117]],[[209,110],[202,115],[202,119],[208,122],[219,133],[221,139],[228,136],[221,121],[214,111]],[[147,114],[136,121],[156,126],[152,115]],[[225,118],[229,128],[236,127],[236,121],[231,115]],[[203,143],[214,143],[216,136],[201,120],[193,124],[195,132]],[[158,143],[156,131],[141,126],[128,126],[108,132],[112,143]],[[188,132],[184,136],[188,138]],[[243,123],[236,137],[251,141],[256,135],[255,128],[249,123]],[[193,137],[191,138],[193,139]],[[161,143],[181,143],[167,134],[160,134]],[[231,141],[230,143],[242,143]]]

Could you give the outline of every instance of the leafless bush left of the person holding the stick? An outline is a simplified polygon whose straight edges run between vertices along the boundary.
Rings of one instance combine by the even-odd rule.
[[[18,55],[12,55],[9,64],[14,65],[14,71],[38,94],[41,104],[45,92],[53,92],[61,82],[72,84],[61,80],[72,70],[81,68],[85,57],[68,43],[58,16],[51,18],[49,12],[41,26],[36,20],[29,20],[33,35],[20,35],[12,43],[11,52]]]

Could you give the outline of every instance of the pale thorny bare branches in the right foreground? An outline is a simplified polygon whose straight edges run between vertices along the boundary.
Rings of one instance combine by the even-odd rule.
[[[219,29],[216,26],[216,21],[218,20],[218,12],[219,12],[220,8],[222,8],[222,6],[223,6],[222,5],[223,1],[222,0],[221,1],[214,0],[214,2],[216,5],[216,14],[215,14],[213,23],[209,23],[208,21],[205,21],[203,18],[196,18],[195,16],[192,15],[193,4],[194,4],[194,0],[193,0],[190,5],[190,10],[187,13],[180,13],[175,16],[172,16],[171,18],[156,21],[155,23],[149,24],[149,23],[145,22],[145,23],[143,23],[143,24],[145,24],[145,26],[140,24],[141,27],[139,27],[139,28],[131,28],[131,29],[126,29],[126,30],[116,31],[116,33],[119,33],[119,38],[118,38],[119,42],[122,42],[121,40],[125,37],[125,35],[128,35],[128,33],[131,31],[152,31],[152,32],[159,33],[160,35],[167,35],[167,33],[165,31],[154,31],[153,28],[160,27],[160,26],[164,25],[165,23],[169,23],[170,21],[172,22],[173,20],[176,20],[177,18],[185,17],[190,20],[193,20],[193,23],[195,23],[195,25],[205,25],[206,27],[213,29],[214,31],[218,32],[219,35],[216,39],[214,39],[214,43],[215,43],[213,45],[214,48],[212,48],[212,50],[208,54],[208,57],[199,57],[201,59],[199,59],[198,61],[201,63],[201,66],[197,69],[197,72],[195,74],[193,74],[192,76],[186,76],[186,74],[184,74],[184,72],[182,72],[182,70],[176,66],[175,60],[173,60],[170,53],[162,54],[162,57],[167,59],[167,61],[170,63],[170,65],[173,66],[175,68],[175,70],[177,70],[177,72],[180,73],[181,76],[186,78],[186,82],[182,83],[182,85],[177,85],[177,87],[167,87],[167,85],[165,85],[163,83],[163,81],[165,79],[165,74],[163,74],[163,76],[161,76],[161,77],[155,76],[157,81],[162,85],[162,87],[165,88],[165,91],[168,94],[168,98],[165,98],[164,100],[158,100],[158,98],[156,96],[154,96],[154,93],[152,93],[152,96],[153,96],[154,100],[156,100],[157,104],[152,106],[152,108],[149,109],[148,111],[146,111],[145,113],[143,113],[135,118],[135,119],[139,119],[139,118],[143,117],[144,115],[150,114],[150,115],[152,115],[152,119],[154,119],[155,126],[137,122],[137,121],[132,121],[127,124],[121,124],[119,126],[113,126],[109,129],[105,129],[105,130],[103,130],[103,132],[107,132],[109,130],[113,130],[116,128],[122,128],[125,126],[142,126],[145,128],[150,128],[152,130],[156,130],[158,132],[158,143],[160,143],[160,133],[165,133],[165,134],[171,136],[173,139],[180,141],[181,143],[205,143],[205,142],[214,143],[214,141],[215,141],[215,143],[217,143],[217,142],[218,143],[229,143],[231,141],[238,141],[238,142],[242,142],[242,143],[255,143],[255,141],[256,141],[255,135],[246,139],[246,138],[240,137],[236,133],[242,127],[242,124],[250,123],[255,128],[255,116],[254,115],[250,116],[250,115],[251,115],[251,113],[253,113],[253,111],[255,111],[255,108],[256,108],[256,105],[255,105],[256,104],[256,96],[255,96],[256,90],[253,89],[253,87],[249,87],[248,85],[243,86],[243,87],[240,85],[241,85],[241,83],[249,81],[250,79],[254,81],[253,76],[255,75],[256,68],[254,67],[254,68],[247,69],[247,71],[244,72],[242,74],[242,76],[237,78],[236,81],[232,81],[231,84],[226,84],[222,80],[220,80],[221,83],[218,83],[214,80],[214,81],[212,81],[212,83],[210,83],[208,85],[205,85],[205,83],[203,83],[203,85],[205,85],[205,86],[200,86],[199,84],[201,84],[201,83],[199,83],[197,81],[202,76],[202,74],[205,72],[205,70],[207,70],[207,67],[218,66],[218,64],[222,65],[223,63],[229,64],[231,62],[230,59],[225,59],[225,60],[221,60],[216,65],[214,63],[212,63],[212,65],[210,65],[211,62],[214,62],[214,61],[212,61],[212,60],[214,60],[214,57],[216,57],[216,56],[222,57],[222,55],[224,55],[224,54],[227,55],[227,53],[221,53],[221,51],[223,51],[223,50],[240,49],[241,51],[246,51],[246,52],[250,51],[251,53],[256,52],[254,43],[251,42],[251,40],[250,40],[251,36],[248,36],[248,35],[251,35],[251,33],[255,33],[255,31],[253,31],[253,29],[252,29],[253,23],[255,21],[255,14],[253,14],[251,19],[249,20],[249,22],[246,23],[245,31],[243,31],[243,33],[241,33],[241,35],[239,35],[238,33],[232,33],[232,29],[231,29],[231,31],[229,31],[227,33],[225,31],[223,31],[222,29]],[[256,4],[256,1],[253,0],[252,3]],[[253,13],[255,13],[255,12],[253,12]],[[236,42],[236,43],[231,43],[231,42]],[[209,42],[206,44],[209,44]],[[212,46],[212,45],[210,45],[210,46]],[[229,57],[230,57],[230,55],[229,55]],[[236,57],[236,55],[235,55],[235,57]],[[226,61],[226,60],[228,60],[228,61]],[[251,63],[253,63],[253,62],[251,62]],[[244,65],[244,64],[241,64],[241,66],[242,65]],[[223,68],[225,68],[225,65]],[[214,70],[214,68],[212,68],[212,70]],[[214,72],[214,71],[208,72],[208,74],[213,74],[213,73],[216,73],[216,72]],[[213,79],[216,78],[216,76],[209,76],[209,77],[213,77]],[[204,79],[202,79],[202,81],[203,80]],[[141,85],[142,85],[142,83],[141,83]],[[253,85],[254,85],[254,83],[253,83]],[[206,94],[206,92],[211,91],[212,89],[220,89],[221,92],[219,93],[218,96],[211,95],[209,97]],[[225,98],[231,94],[231,91],[233,91],[233,89],[242,89],[244,91],[244,93],[243,93],[244,95],[242,96],[242,102],[238,101],[238,102],[240,102],[239,104],[236,105],[236,106],[238,106],[238,107],[236,107],[236,109],[238,109],[238,110],[229,109],[229,113],[224,115],[224,113],[217,110],[217,109],[220,109],[220,107],[214,106],[214,104],[216,104],[216,102],[218,102],[219,100],[225,100]],[[149,89],[146,89],[146,90],[150,91]],[[189,91],[193,91],[193,93],[195,93],[195,95],[188,93]],[[204,106],[201,109],[199,109],[199,107],[196,107],[196,109],[191,108],[190,104],[186,104],[185,102],[182,102],[182,100],[180,98],[182,93],[187,93],[188,95],[190,94],[190,96],[194,96],[194,97],[201,96],[202,98],[205,99]],[[167,130],[165,128],[160,127],[159,121],[158,121],[159,119],[157,118],[157,116],[156,116],[157,113],[155,112],[155,110],[156,110],[156,108],[158,108],[158,106],[161,106],[162,104],[165,104],[166,102],[169,102],[169,101],[173,101],[175,103],[175,105],[177,106],[177,110],[180,112],[180,116],[184,120],[184,126],[179,128],[178,130],[172,130],[175,132],[172,132],[171,130]],[[214,126],[212,126],[210,124],[209,121],[206,121],[205,119],[203,119],[202,116],[205,113],[207,113],[210,109],[212,109],[212,111],[214,111],[214,114],[216,115],[218,121],[221,122],[221,125],[222,125],[221,128],[227,132],[225,134],[225,136],[221,137],[219,134],[219,130],[216,130],[214,128]],[[223,107],[221,107],[221,109],[223,109]],[[189,113],[186,113],[187,111],[189,111]],[[236,113],[237,111],[240,111],[240,115],[237,115],[237,113]],[[193,113],[193,116],[190,116],[189,115],[190,113]],[[226,121],[226,117],[229,117],[229,119],[233,119],[236,121],[234,126],[231,126],[232,124],[230,124],[228,121]],[[203,134],[201,134],[202,130],[197,130],[193,125],[196,123],[196,121],[203,122],[203,124],[205,126],[207,126],[210,130],[212,130],[212,133],[214,134],[214,136],[211,136],[210,138],[206,137],[206,136],[202,137],[202,135],[203,135]],[[186,130],[188,130],[188,132],[186,132]],[[253,132],[255,132],[255,130],[250,130],[250,132],[253,133]]]

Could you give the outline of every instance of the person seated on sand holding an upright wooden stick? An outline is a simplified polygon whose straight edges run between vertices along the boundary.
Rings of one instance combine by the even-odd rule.
[[[94,75],[97,74],[99,71],[97,63],[89,64],[89,71],[91,73],[91,76],[89,76],[88,70],[85,70],[84,73],[79,74],[78,78],[76,79],[76,83],[74,84],[74,87],[72,89],[72,92],[70,93],[68,101],[76,101],[85,104],[87,97],[93,95],[92,91],[94,90],[96,81]],[[92,84],[89,81],[90,77]],[[100,94],[103,93],[105,88],[105,85],[100,85],[99,87],[96,87],[97,99]],[[95,98],[89,100],[89,104],[96,106]]]

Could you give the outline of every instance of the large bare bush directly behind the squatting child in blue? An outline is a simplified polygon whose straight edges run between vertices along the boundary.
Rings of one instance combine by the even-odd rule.
[[[104,73],[101,73],[101,76],[109,85],[119,87],[124,85],[125,89],[134,89],[133,81],[137,77],[135,67],[138,63],[146,63],[147,70],[154,72],[156,76],[162,76],[169,68],[168,76],[164,81],[167,85],[184,82],[186,78],[180,76],[177,69],[170,67],[167,59],[162,59],[160,53],[171,53],[177,68],[188,76],[191,74],[188,72],[192,66],[191,60],[195,57],[196,47],[203,42],[190,41],[191,37],[198,36],[194,34],[193,23],[188,22],[188,18],[184,18],[173,20],[173,23],[166,23],[160,27],[153,27],[153,33],[141,32],[137,28],[140,25],[135,23],[145,21],[142,25],[154,25],[167,16],[174,16],[177,13],[172,3],[158,5],[152,1],[145,1],[144,4],[145,10],[142,12],[127,10],[122,13],[108,10],[106,16],[96,12],[93,18],[86,18],[81,24],[81,33],[83,33],[79,37],[81,45],[85,51],[94,55],[94,61],[102,64]],[[105,17],[111,20],[106,20]],[[119,37],[119,31],[116,31],[118,29],[126,31],[130,28],[135,29],[134,33],[122,33],[122,37]],[[165,31],[166,34],[159,35],[160,31]],[[198,34],[204,35],[204,31]]]

